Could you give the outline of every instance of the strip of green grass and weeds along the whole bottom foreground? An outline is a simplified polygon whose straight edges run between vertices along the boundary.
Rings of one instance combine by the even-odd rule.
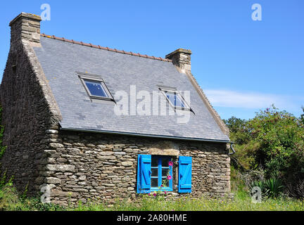
[[[117,201],[111,207],[98,203],[80,203],[77,207],[60,207],[42,204],[39,199],[29,199],[18,195],[13,186],[4,186],[0,190],[0,210],[66,210],[66,211],[303,211],[304,200],[291,198],[264,199],[262,203],[252,203],[248,193],[238,191],[234,200],[229,199],[193,199],[184,197],[179,200],[166,200],[163,196],[145,195],[139,203]]]

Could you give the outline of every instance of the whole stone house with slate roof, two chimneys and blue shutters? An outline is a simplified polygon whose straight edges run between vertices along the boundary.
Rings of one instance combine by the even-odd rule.
[[[191,74],[190,50],[119,51],[41,34],[40,21],[20,13],[9,24],[0,89],[1,170],[20,191],[62,205],[229,193],[229,131]]]

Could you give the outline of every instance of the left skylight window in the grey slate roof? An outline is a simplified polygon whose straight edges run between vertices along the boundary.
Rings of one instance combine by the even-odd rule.
[[[113,97],[101,77],[87,74],[81,74],[79,77],[91,99],[113,101]]]

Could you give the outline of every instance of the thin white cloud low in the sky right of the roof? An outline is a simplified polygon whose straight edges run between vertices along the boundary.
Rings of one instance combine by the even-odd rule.
[[[278,108],[293,108],[291,96],[274,94],[246,93],[229,90],[204,90],[213,106],[229,108],[267,108],[274,104]]]

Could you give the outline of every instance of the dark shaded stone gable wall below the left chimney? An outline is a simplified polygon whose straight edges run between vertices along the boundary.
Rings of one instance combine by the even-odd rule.
[[[39,177],[42,163],[45,163],[42,150],[46,146],[40,141],[52,122],[42,88],[25,46],[21,44],[8,55],[0,94],[5,127],[3,143],[7,146],[1,160],[1,171],[7,170],[9,177],[15,177],[14,183],[20,191],[29,183],[29,191],[34,193],[39,186],[35,180]]]

